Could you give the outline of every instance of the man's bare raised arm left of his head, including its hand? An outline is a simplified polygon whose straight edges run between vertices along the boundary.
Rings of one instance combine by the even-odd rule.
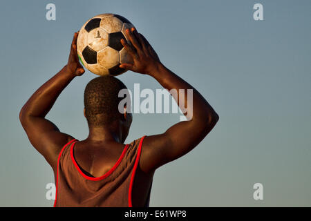
[[[55,169],[57,156],[64,144],[73,137],[61,133],[57,126],[46,119],[47,113],[52,108],[62,90],[76,76],[82,75],[84,69],[77,58],[77,35],[75,33],[70,48],[68,64],[54,77],[46,81],[23,105],[19,113],[19,120],[26,131],[30,143],[48,163]]]

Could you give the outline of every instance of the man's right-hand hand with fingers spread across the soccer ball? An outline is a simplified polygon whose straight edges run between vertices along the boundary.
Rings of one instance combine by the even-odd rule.
[[[153,50],[147,39],[137,32],[135,28],[126,29],[126,36],[131,41],[131,45],[126,40],[121,39],[121,44],[129,52],[134,64],[120,64],[120,68],[132,70],[144,75],[151,74],[157,70],[161,64],[157,53]]]

